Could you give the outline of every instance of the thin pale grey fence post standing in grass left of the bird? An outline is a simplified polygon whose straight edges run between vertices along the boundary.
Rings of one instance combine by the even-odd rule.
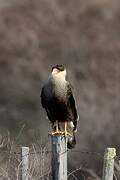
[[[21,180],[28,180],[29,147],[21,148]]]

